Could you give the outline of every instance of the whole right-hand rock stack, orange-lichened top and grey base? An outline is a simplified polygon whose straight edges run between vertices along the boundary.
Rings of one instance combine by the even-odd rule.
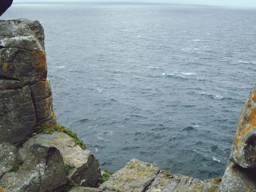
[[[230,161],[219,191],[256,191],[256,87],[238,120]]]

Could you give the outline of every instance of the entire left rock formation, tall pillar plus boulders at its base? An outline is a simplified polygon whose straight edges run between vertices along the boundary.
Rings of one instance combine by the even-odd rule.
[[[37,21],[0,20],[0,117],[0,191],[97,186],[99,161],[73,133],[35,133],[44,123],[57,127]]]

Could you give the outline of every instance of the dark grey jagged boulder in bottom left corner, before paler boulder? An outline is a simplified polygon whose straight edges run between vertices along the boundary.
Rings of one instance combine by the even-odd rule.
[[[65,183],[66,171],[59,150],[40,145],[32,145],[23,166],[0,180],[0,186],[8,192],[53,191]]]

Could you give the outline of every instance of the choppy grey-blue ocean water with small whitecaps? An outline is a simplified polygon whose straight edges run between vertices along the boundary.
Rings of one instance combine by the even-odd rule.
[[[59,123],[104,169],[131,158],[223,174],[256,76],[256,11],[172,4],[13,4],[39,20]]]

